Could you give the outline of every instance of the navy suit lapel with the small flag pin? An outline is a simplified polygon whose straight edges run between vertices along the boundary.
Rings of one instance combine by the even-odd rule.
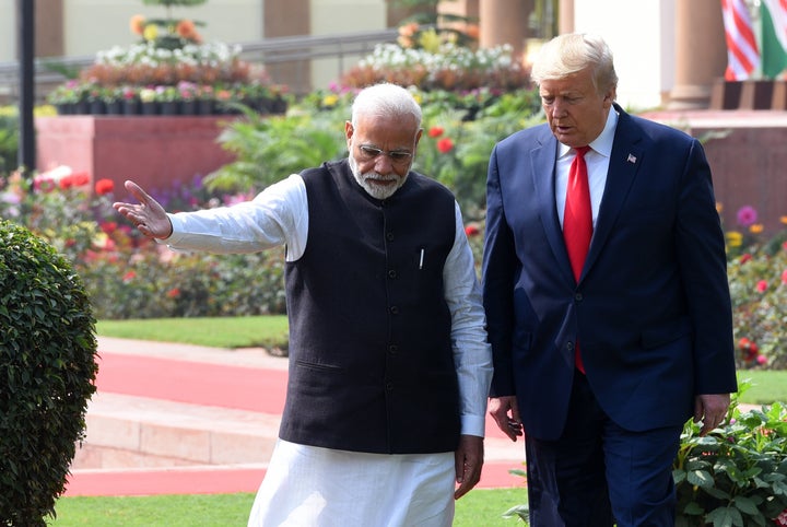
[[[637,144],[642,139],[639,129],[629,114],[618,105],[615,105],[615,109],[619,113],[619,119],[607,172],[607,184],[601,198],[583,277],[592,267],[607,243],[645,155],[643,147]]]

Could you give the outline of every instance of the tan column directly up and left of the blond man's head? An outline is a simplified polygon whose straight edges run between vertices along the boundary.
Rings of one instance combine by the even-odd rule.
[[[510,44],[514,57],[521,57],[531,11],[532,0],[480,0],[480,46],[491,48]]]

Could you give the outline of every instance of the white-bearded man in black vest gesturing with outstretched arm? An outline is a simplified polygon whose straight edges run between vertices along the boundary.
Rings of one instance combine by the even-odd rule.
[[[249,526],[448,527],[481,477],[492,360],[473,256],[448,189],[411,171],[421,108],[359,93],[349,156],[234,207],[115,203],[176,249],[286,246],[290,376]]]

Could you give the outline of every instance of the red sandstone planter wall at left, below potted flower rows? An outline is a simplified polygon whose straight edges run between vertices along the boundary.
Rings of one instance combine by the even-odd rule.
[[[35,119],[37,169],[67,165],[92,181],[133,179],[149,189],[168,189],[208,175],[233,156],[216,138],[232,116],[73,115]],[[91,185],[92,187],[92,185]]]

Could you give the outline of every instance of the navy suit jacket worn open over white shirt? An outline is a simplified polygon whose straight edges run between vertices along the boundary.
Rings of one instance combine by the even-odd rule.
[[[598,402],[632,431],[680,425],[694,396],[736,391],[724,233],[696,139],[618,105],[607,185],[579,282],[555,209],[548,125],[492,153],[483,258],[495,373],[525,432],[561,435],[579,341]]]

